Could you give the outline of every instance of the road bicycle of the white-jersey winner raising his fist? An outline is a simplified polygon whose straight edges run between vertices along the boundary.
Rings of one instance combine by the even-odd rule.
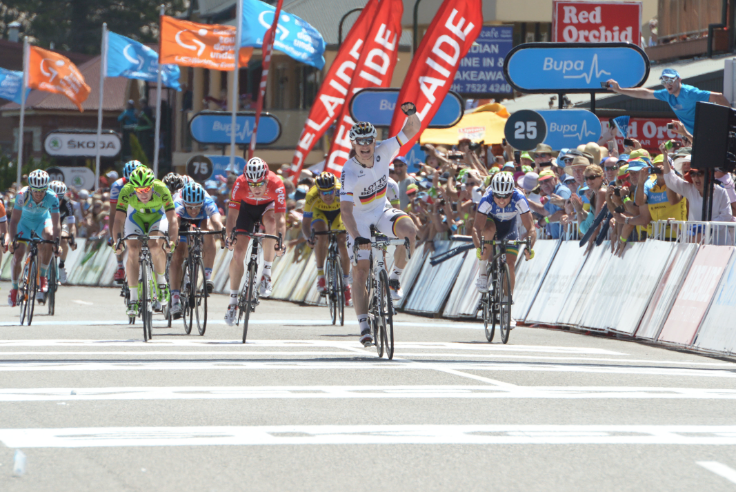
[[[389,239],[378,233],[375,227],[370,227],[371,253],[369,258],[369,273],[366,282],[368,290],[368,325],[373,334],[373,343],[378,356],[383,357],[383,348],[386,356],[394,358],[394,305],[389,290],[389,273],[386,272],[386,248],[389,245],[404,246],[406,261],[411,259],[409,253],[409,239]],[[374,263],[375,260],[375,263]],[[353,244],[353,264],[358,264],[358,245]]]

